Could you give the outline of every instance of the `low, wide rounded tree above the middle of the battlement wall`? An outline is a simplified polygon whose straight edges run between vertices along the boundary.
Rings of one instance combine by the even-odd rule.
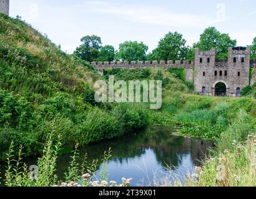
[[[149,47],[143,42],[126,41],[119,45],[119,51],[116,53],[116,60],[122,61],[144,61],[147,57]]]

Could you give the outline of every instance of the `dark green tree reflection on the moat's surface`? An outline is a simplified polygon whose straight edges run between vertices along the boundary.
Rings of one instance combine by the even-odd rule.
[[[130,158],[142,157],[147,149],[152,149],[162,167],[177,167],[180,164],[179,154],[192,153],[193,160],[200,160],[207,148],[212,146],[212,142],[173,136],[173,132],[170,127],[150,126],[137,134],[84,147],[81,154],[87,152],[89,162],[92,162],[92,159],[101,160],[104,151],[111,147],[111,160],[123,164],[128,163]]]

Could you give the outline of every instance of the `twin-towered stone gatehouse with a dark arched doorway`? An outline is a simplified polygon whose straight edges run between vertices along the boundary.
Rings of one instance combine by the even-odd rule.
[[[229,48],[227,61],[217,62],[216,49],[195,49],[195,91],[202,95],[240,96],[250,84],[250,48]]]

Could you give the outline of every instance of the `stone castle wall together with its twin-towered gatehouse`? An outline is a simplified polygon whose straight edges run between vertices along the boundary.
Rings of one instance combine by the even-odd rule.
[[[256,60],[250,60],[250,48],[229,48],[226,62],[216,61],[216,49],[200,51],[195,49],[195,60],[185,61],[145,61],[145,62],[92,62],[97,70],[111,68],[185,68],[186,80],[194,82],[195,91],[215,95],[217,83],[224,83],[227,96],[237,95],[247,85],[256,82],[256,70],[250,80],[250,68],[256,69]]]

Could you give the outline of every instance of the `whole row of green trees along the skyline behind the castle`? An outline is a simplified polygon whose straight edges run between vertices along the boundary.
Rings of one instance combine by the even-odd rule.
[[[81,39],[82,44],[77,47],[74,55],[87,62],[112,62],[114,60],[194,60],[194,49],[217,49],[217,59],[228,57],[228,48],[235,47],[237,40],[230,39],[229,34],[220,33],[215,27],[208,27],[200,35],[199,42],[192,47],[186,45],[186,40],[179,32],[168,32],[160,39],[157,47],[149,54],[149,47],[143,42],[126,41],[119,44],[115,52],[112,45],[102,46],[101,37],[86,35]],[[256,37],[251,45],[252,58],[256,59]]]

